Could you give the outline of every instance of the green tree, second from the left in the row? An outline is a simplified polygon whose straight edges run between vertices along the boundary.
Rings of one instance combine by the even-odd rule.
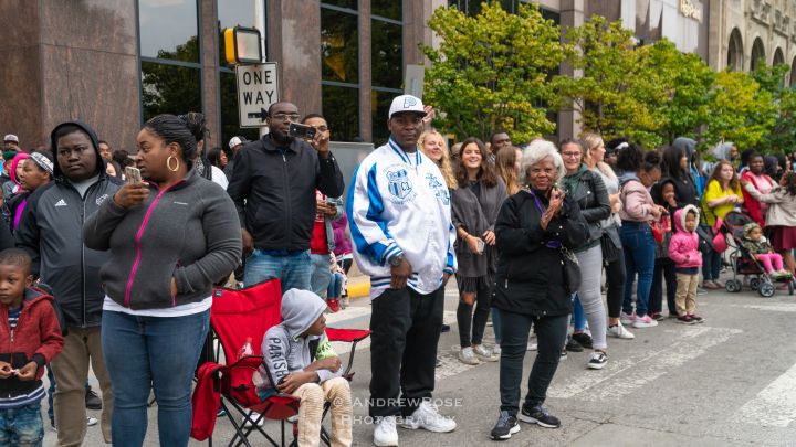
[[[650,70],[650,46],[637,46],[621,22],[599,15],[570,28],[565,41],[565,61],[582,75],[554,78],[556,107],[578,111],[585,130],[606,138],[629,137],[647,147],[661,143],[654,106],[664,104],[671,92]]]

